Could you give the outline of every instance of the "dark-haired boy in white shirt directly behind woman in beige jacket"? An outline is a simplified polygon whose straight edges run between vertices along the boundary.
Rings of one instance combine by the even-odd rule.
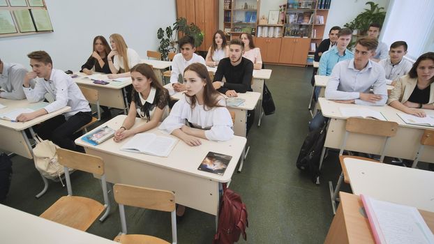
[[[384,68],[387,84],[395,85],[396,80],[407,73],[412,68],[412,62],[404,59],[407,54],[407,43],[398,40],[390,45],[389,57],[380,60],[380,66]]]

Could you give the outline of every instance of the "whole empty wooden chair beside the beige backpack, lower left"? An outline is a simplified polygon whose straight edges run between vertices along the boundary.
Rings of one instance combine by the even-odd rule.
[[[104,215],[100,218],[100,221],[104,221],[110,212],[110,201],[107,195],[103,160],[93,155],[77,153],[63,148],[57,148],[57,160],[59,164],[63,165],[65,171],[68,195],[57,200],[40,217],[82,231],[89,229],[100,213],[105,210]],[[73,196],[68,168],[101,176],[104,205],[87,197]]]

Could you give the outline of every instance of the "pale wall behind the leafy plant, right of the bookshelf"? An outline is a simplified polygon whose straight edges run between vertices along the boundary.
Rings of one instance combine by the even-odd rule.
[[[387,11],[389,0],[331,0],[329,15],[327,15],[327,23],[324,29],[324,39],[329,38],[329,30],[333,26],[341,26],[354,20],[359,13],[363,12],[369,5],[366,2],[373,1],[378,3]]]

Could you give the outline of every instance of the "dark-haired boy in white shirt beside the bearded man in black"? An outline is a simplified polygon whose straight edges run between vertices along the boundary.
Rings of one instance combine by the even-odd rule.
[[[170,83],[175,91],[185,91],[184,84],[178,83],[179,75],[184,74],[184,69],[191,63],[203,63],[205,59],[195,54],[195,39],[191,36],[183,36],[178,40],[180,53],[175,55],[172,61],[172,73],[170,73]]]

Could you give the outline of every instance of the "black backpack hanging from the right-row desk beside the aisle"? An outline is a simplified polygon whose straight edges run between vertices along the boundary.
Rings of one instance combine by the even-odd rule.
[[[312,181],[319,184],[320,158],[322,147],[324,146],[327,123],[324,123],[317,130],[308,133],[301,146],[299,158],[297,158],[297,168],[308,171],[312,176]]]

